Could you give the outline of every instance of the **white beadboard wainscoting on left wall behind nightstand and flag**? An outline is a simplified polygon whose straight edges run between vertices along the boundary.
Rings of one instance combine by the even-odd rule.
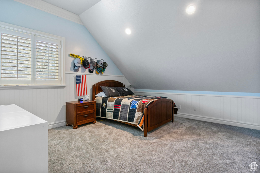
[[[78,75],[82,73],[77,73]],[[130,84],[124,76],[87,75],[87,94],[92,99],[92,85],[103,80],[120,81],[128,87]],[[66,102],[76,97],[76,73],[66,73],[66,87],[55,89],[12,89],[0,90],[0,105],[15,104],[32,114],[48,121],[49,128],[65,125]]]

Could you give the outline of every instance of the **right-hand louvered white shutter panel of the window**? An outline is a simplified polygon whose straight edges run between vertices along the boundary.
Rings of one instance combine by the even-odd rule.
[[[60,42],[47,38],[36,38],[36,81],[59,83]]]

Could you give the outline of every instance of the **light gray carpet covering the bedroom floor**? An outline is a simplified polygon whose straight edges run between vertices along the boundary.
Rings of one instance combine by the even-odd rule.
[[[49,129],[49,172],[260,172],[260,131],[174,117],[143,137],[112,120]],[[256,162],[257,171],[249,164]]]

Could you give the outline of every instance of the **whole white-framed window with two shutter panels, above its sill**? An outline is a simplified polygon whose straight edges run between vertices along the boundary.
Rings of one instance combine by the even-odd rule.
[[[0,22],[1,85],[64,85],[65,38]]]

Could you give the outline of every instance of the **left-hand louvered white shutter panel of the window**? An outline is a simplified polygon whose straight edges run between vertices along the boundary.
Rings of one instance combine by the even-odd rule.
[[[31,83],[31,35],[2,30],[1,79],[3,84]]]

